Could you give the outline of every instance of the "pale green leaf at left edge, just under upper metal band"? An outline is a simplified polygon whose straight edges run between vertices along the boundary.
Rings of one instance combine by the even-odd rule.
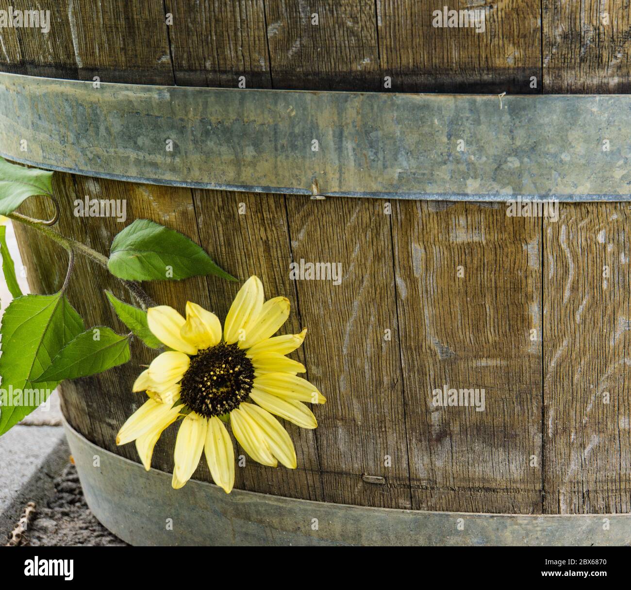
[[[25,199],[38,194],[52,196],[52,172],[9,164],[0,158],[0,215],[9,215]]]

